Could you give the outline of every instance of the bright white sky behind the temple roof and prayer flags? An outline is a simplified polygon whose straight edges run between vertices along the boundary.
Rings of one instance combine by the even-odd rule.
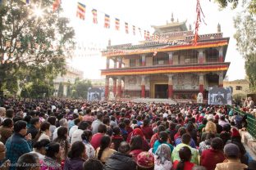
[[[86,5],[85,20],[77,18],[77,2]],[[204,23],[200,25],[199,34],[217,33],[217,24],[222,27],[223,37],[229,37],[230,42],[226,52],[226,62],[231,62],[227,76],[229,80],[245,78],[245,60],[235,46],[233,18],[240,10],[231,10],[227,7],[220,10],[212,0],[203,0],[201,7],[204,14]],[[196,0],[62,0],[63,16],[71,20],[70,25],[75,29],[77,50],[67,59],[68,65],[84,71],[84,78],[98,79],[100,69],[106,68],[106,59],[101,56],[101,50],[106,49],[108,40],[112,45],[123,43],[137,44],[144,39],[144,29],[153,33],[151,25],[166,25],[171,22],[171,13],[175,20],[186,21],[192,25],[196,20]],[[93,24],[92,9],[98,11],[98,25]],[[104,15],[110,16],[110,29],[104,29]],[[120,20],[120,31],[115,30],[115,18]],[[129,34],[125,33],[125,22],[129,25]],[[132,25],[142,29],[142,36],[137,30],[132,34]]]

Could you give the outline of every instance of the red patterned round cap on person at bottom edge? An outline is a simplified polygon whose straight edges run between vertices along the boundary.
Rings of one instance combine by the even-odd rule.
[[[138,154],[137,170],[153,170],[154,169],[154,156],[149,152],[141,152]]]

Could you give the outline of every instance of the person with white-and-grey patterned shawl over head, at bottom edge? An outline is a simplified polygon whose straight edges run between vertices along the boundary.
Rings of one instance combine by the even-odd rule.
[[[171,149],[167,144],[159,145],[154,155],[154,164],[155,170],[171,169]]]

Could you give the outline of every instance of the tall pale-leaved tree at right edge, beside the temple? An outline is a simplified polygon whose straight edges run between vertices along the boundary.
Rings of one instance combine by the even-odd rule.
[[[237,7],[239,0],[217,0],[221,7],[232,3]],[[256,0],[244,0],[243,12],[235,17],[236,46],[245,58],[245,71],[249,78],[251,90],[256,88]]]

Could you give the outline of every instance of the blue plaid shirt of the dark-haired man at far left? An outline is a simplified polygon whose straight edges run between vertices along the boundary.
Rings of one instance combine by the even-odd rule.
[[[6,142],[7,159],[11,160],[11,164],[17,163],[22,154],[32,151],[31,141],[26,141],[20,133],[14,133]],[[11,166],[10,170],[15,170],[15,166]]]

